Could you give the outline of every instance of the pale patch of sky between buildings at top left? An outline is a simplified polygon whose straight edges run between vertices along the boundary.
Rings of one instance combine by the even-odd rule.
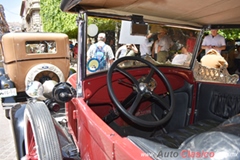
[[[0,4],[4,7],[7,22],[22,23],[20,16],[22,0],[0,0]]]

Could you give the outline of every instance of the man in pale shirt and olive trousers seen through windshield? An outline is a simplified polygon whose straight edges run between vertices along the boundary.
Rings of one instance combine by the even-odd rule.
[[[157,42],[157,61],[160,63],[165,63],[169,57],[169,49],[173,45],[173,41],[167,35],[166,28],[160,28],[159,32],[159,40]]]

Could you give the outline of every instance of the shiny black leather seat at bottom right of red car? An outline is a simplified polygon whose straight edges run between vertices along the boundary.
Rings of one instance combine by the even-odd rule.
[[[140,149],[142,149],[146,155],[152,157],[153,159],[163,158],[162,156],[164,153],[174,153],[175,155],[177,155],[177,157],[164,157],[164,160],[173,160],[176,158],[191,159],[192,157],[183,156],[184,151],[192,153],[211,151],[211,153],[214,154],[213,159],[240,159],[240,151],[238,150],[238,148],[240,147],[240,114],[224,121],[223,123],[216,127],[213,127],[212,129],[210,129],[211,127],[210,125],[207,125],[207,123],[217,125],[217,121],[206,120],[205,122],[199,123],[188,126],[183,130],[180,129],[179,131],[176,131],[176,133],[184,133],[182,138],[187,138],[186,135],[188,134],[188,131],[191,132],[192,130],[196,130],[196,134],[191,136],[191,133],[189,133],[188,135],[190,137],[185,139],[180,145],[180,136],[176,136],[177,134],[175,135],[175,133],[163,135],[162,138],[160,138],[160,136],[157,136],[154,139],[145,139],[140,137],[128,136],[128,139],[132,141],[135,145],[137,145]],[[200,133],[197,133],[197,131],[200,131]],[[166,141],[169,139],[165,138],[169,137],[171,137],[170,140],[172,141],[172,144],[166,143]],[[156,142],[156,139],[158,139],[158,142]],[[173,141],[174,139],[176,140]],[[212,158],[208,157],[207,159]]]

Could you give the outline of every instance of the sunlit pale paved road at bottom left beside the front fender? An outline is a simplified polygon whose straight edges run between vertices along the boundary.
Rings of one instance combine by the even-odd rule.
[[[10,120],[0,108],[0,160],[16,160]]]

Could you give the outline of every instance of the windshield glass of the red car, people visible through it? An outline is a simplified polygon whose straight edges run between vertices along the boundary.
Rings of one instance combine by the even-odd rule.
[[[146,22],[88,17],[87,74],[109,69],[126,56],[138,56],[155,65],[190,68],[200,30]],[[120,67],[139,67],[132,60]]]

